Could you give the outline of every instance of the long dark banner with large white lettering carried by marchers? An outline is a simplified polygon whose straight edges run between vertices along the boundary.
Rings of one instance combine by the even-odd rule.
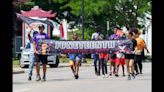
[[[44,40],[40,43],[40,54],[56,53],[133,53],[131,40],[101,40],[101,41],[55,41]]]

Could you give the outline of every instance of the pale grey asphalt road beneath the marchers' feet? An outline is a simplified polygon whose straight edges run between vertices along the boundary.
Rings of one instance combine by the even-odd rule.
[[[28,81],[28,70],[24,69],[25,73],[13,74],[13,92],[151,92],[151,64],[143,63],[143,74],[134,80],[121,76],[121,69],[119,77],[95,76],[94,67],[90,66],[80,67],[78,80],[74,79],[69,67],[48,68],[47,81],[37,82],[35,70],[33,80]]]

